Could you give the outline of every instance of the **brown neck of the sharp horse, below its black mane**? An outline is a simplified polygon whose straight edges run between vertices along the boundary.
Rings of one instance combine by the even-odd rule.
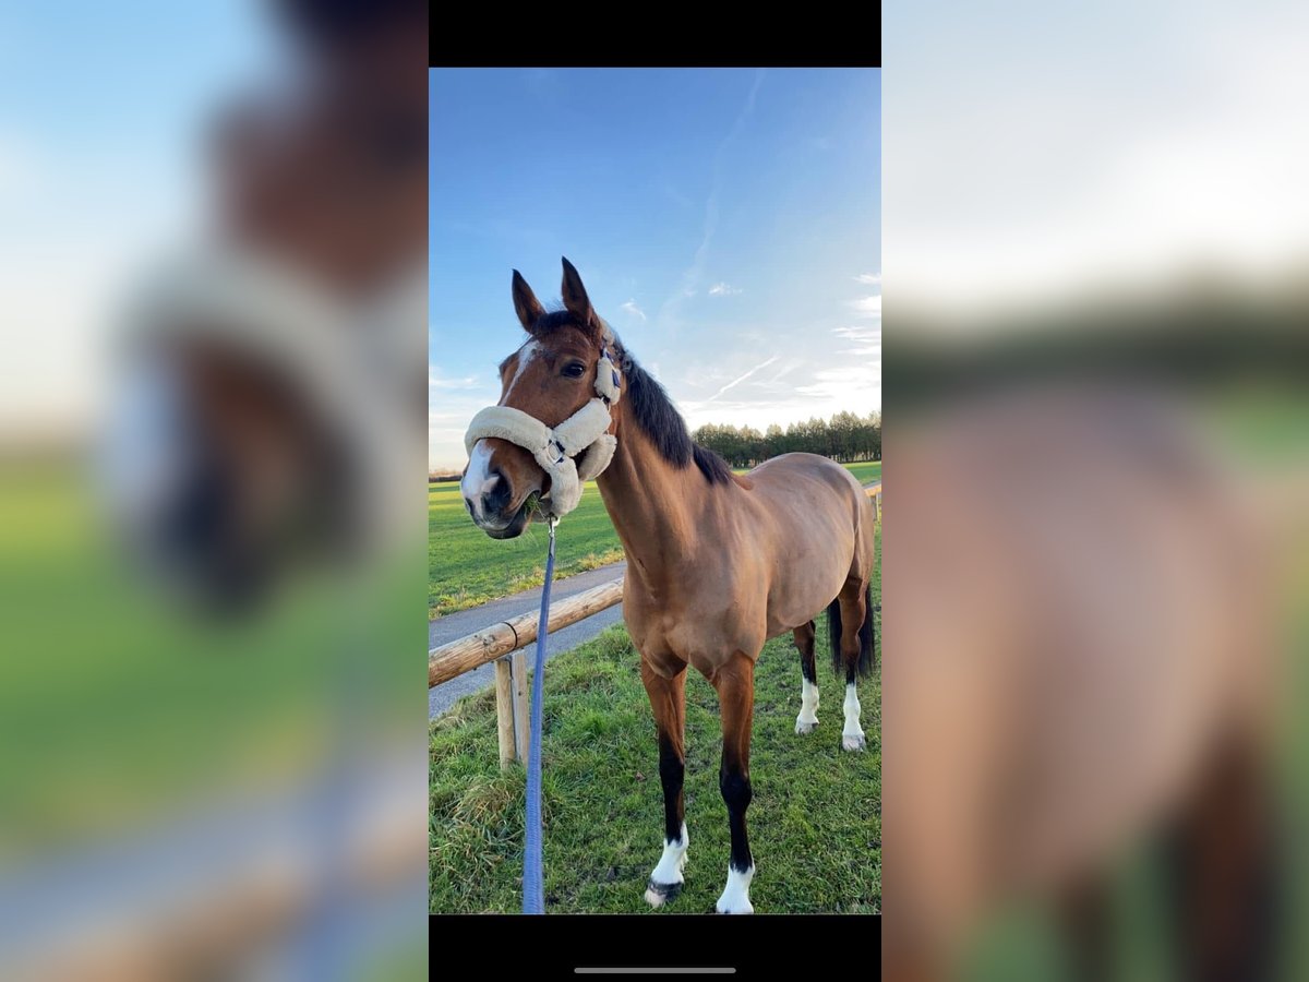
[[[707,491],[695,465],[674,467],[644,433],[619,429],[614,460],[597,479],[609,517],[627,553],[628,570],[653,589],[694,555],[695,515]],[[692,478],[698,481],[692,481]]]

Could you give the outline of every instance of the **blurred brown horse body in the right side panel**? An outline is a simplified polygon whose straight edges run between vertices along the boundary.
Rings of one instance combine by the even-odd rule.
[[[886,978],[959,977],[1014,903],[1071,977],[1114,977],[1144,847],[1175,977],[1268,977],[1285,669],[1251,481],[1139,382],[969,394],[897,432]]]

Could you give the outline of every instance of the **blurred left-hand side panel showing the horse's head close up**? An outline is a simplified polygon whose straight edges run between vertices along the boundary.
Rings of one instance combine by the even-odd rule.
[[[420,977],[427,8],[0,51],[0,975]]]

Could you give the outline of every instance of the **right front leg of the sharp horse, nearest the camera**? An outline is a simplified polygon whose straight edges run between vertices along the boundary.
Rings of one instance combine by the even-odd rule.
[[[745,810],[750,807],[750,725],[754,720],[754,661],[742,653],[713,673],[723,715],[723,766],[719,790],[728,807],[732,830],[732,855],[728,860],[728,885],[719,897],[720,914],[753,914],[750,880],[754,879],[754,856],[745,829]]]

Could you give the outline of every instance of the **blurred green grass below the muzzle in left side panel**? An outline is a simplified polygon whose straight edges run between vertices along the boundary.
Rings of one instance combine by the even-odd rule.
[[[370,683],[355,725],[403,727],[420,554],[356,587],[355,608],[301,584],[255,623],[196,623],[128,572],[75,462],[0,467],[0,863],[289,786],[340,725],[350,643],[367,643]]]

